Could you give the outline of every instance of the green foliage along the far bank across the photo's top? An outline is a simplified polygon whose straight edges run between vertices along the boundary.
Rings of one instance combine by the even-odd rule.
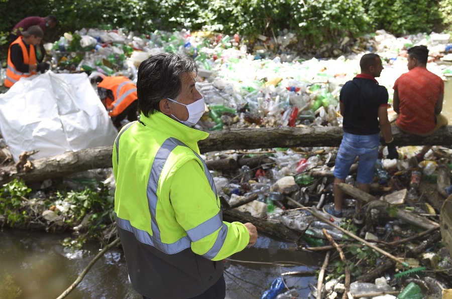
[[[430,32],[441,22],[450,28],[451,7],[452,0],[1,0],[0,11],[8,14],[0,21],[0,32],[9,32],[27,16],[53,14],[59,24],[46,32],[44,41],[81,28],[140,33],[185,28],[238,33],[250,41],[258,35],[274,40],[286,30],[296,36],[298,50],[314,51],[377,29],[402,35]]]

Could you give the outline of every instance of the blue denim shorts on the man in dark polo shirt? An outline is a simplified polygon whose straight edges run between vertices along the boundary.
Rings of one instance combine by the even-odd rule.
[[[374,179],[375,163],[378,159],[378,147],[380,146],[380,134],[354,135],[344,132],[339,151],[337,152],[334,177],[344,180],[350,171],[350,167],[358,161],[357,182],[370,184]]]

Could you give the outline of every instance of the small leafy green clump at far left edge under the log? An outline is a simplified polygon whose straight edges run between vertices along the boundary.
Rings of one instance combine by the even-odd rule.
[[[4,215],[11,226],[27,223],[28,215],[21,207],[28,201],[26,196],[30,192],[24,181],[17,179],[0,189],[0,215]]]

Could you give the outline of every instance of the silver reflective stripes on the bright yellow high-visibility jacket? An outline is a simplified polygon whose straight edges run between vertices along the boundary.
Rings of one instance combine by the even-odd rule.
[[[124,130],[123,130],[124,132]],[[117,161],[119,160],[119,137],[116,140],[116,148],[117,148]],[[174,254],[177,252],[180,252],[186,248],[189,248],[191,245],[191,242],[198,241],[202,238],[204,238],[207,235],[210,235],[214,231],[218,230],[217,239],[215,240],[213,246],[205,253],[203,256],[208,259],[212,259],[217,255],[219,250],[221,249],[224,240],[226,238],[226,235],[228,233],[228,227],[223,224],[222,220],[222,213],[221,211],[218,212],[217,215],[213,216],[212,218],[206,220],[205,222],[199,224],[197,227],[194,227],[188,231],[186,231],[187,236],[182,237],[181,239],[177,240],[176,242],[172,244],[166,244],[161,241],[160,236],[160,229],[156,221],[156,207],[157,207],[157,185],[158,181],[162,172],[162,169],[171,154],[171,152],[176,148],[176,146],[187,146],[180,140],[176,138],[168,138],[163,142],[159,150],[157,151],[157,154],[154,158],[153,165],[151,167],[151,173],[149,176],[148,186],[147,186],[147,197],[148,197],[148,205],[149,205],[149,211],[151,213],[151,229],[153,236],[150,236],[146,231],[137,229],[133,227],[130,223],[130,221],[121,219],[117,217],[117,224],[120,228],[131,231],[134,233],[135,237],[142,243],[151,245],[156,247],[157,249],[168,253],[168,254]],[[188,147],[188,146],[187,146]],[[213,178],[210,175],[209,171],[207,170],[207,167],[204,163],[204,161],[199,157],[199,155],[195,152],[193,152],[198,159],[202,162],[204,166],[204,174],[207,177],[207,180],[209,181],[210,188],[212,189],[215,198],[217,197],[215,184],[213,182]]]

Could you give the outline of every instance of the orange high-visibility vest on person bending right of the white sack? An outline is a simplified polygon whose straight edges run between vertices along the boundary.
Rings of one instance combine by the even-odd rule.
[[[105,77],[97,87],[111,91],[113,98],[106,98],[104,103],[111,117],[117,116],[138,99],[137,85],[124,76]]]

